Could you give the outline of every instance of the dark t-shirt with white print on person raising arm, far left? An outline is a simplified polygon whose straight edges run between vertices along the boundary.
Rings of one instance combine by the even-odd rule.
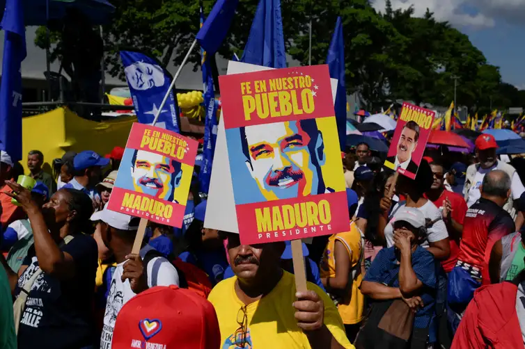
[[[84,348],[93,340],[93,298],[97,273],[97,243],[91,236],[75,234],[60,250],[71,255],[75,275],[58,279],[42,273],[29,291],[18,330],[18,348]],[[29,248],[15,295],[39,269],[35,246]],[[29,301],[31,300],[31,302]]]

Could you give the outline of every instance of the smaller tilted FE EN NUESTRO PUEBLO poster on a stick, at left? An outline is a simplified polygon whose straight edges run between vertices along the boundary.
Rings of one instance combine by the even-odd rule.
[[[182,227],[197,147],[196,140],[135,122],[108,209]]]

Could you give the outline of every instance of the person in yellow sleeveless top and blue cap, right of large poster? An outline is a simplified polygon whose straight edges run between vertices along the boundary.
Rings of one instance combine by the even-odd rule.
[[[347,200],[352,217],[358,200],[354,190],[347,189]],[[352,342],[363,319],[364,297],[359,291],[364,274],[363,242],[359,228],[351,221],[349,232],[329,237],[320,268],[322,284],[338,303],[347,337]]]

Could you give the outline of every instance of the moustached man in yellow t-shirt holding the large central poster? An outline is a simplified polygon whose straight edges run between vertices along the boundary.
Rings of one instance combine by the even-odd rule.
[[[284,243],[241,245],[228,234],[230,266],[235,273],[214,287],[212,302],[221,349],[354,349],[329,298],[308,282],[297,292],[294,275],[281,269]]]

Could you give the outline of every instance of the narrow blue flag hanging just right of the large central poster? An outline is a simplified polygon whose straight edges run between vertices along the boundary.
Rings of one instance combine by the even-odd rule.
[[[345,83],[345,44],[343,38],[343,23],[341,17],[337,17],[336,30],[331,38],[328,49],[327,65],[330,70],[330,77],[337,79],[336,122],[339,134],[339,145],[342,150],[346,143],[346,83]]]

